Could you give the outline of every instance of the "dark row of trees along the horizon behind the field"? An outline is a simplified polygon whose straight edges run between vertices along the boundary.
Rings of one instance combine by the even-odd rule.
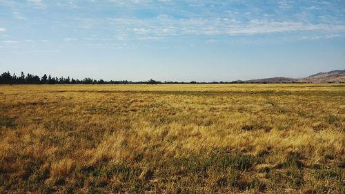
[[[148,81],[104,81],[103,79],[92,79],[92,78],[84,78],[84,79],[74,79],[70,77],[52,77],[51,75],[44,74],[42,77],[38,75],[32,75],[30,73],[24,74],[21,72],[21,75],[16,75],[13,73],[11,75],[10,72],[3,72],[0,75],[0,84],[239,84],[243,83],[242,81],[232,81],[232,82],[197,82],[197,81],[190,81],[190,82],[178,82],[178,81],[155,81],[154,79],[150,79]]]

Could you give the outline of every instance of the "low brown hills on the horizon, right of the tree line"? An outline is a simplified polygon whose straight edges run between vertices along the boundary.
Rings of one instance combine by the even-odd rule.
[[[345,70],[333,70],[330,72],[319,72],[304,78],[271,77],[264,79],[250,79],[246,83],[345,83]]]

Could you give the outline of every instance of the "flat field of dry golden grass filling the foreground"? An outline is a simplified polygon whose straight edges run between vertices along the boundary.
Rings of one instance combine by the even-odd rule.
[[[0,193],[345,193],[344,84],[0,86]]]

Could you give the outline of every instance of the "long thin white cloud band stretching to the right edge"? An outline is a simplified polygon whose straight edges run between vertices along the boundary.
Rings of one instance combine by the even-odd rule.
[[[307,23],[304,21],[273,21],[252,19],[238,21],[236,19],[174,19],[157,17],[156,19],[124,19],[108,18],[117,32],[128,32],[132,29],[137,35],[153,37],[175,35],[260,35],[279,32],[327,32],[330,34],[345,33],[342,23]],[[140,26],[133,28],[132,26]],[[128,32],[130,33],[130,32]]]

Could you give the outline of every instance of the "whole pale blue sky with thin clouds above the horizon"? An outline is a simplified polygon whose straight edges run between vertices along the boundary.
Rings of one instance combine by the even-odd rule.
[[[0,0],[0,71],[147,81],[345,69],[345,0]]]

